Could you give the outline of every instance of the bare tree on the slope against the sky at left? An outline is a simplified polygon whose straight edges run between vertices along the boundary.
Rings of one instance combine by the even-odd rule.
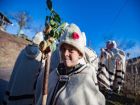
[[[30,29],[30,23],[32,21],[31,16],[25,12],[18,12],[16,14],[13,15],[13,19],[18,23],[19,26],[19,30],[17,35],[20,36],[23,33],[23,29]]]

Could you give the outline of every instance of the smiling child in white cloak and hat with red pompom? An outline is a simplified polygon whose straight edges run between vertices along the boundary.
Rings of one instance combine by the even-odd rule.
[[[105,105],[93,78],[95,68],[79,63],[85,57],[84,36],[79,27],[69,24],[63,35],[59,45],[61,63],[50,73],[46,105]]]

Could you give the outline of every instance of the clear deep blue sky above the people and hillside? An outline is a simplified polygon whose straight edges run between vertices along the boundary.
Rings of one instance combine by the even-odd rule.
[[[140,56],[140,2],[139,0],[52,0],[63,21],[77,24],[86,33],[87,45],[97,53],[108,39],[121,43],[120,48]],[[32,25],[43,26],[49,13],[45,0],[0,0],[0,11],[11,13],[27,11],[33,18]],[[17,24],[8,27],[16,33]],[[34,35],[25,30],[29,38]]]

